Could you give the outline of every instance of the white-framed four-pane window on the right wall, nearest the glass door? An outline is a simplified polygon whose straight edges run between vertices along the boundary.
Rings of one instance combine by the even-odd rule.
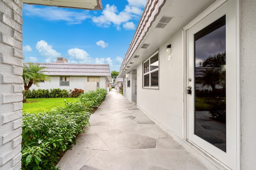
[[[158,52],[143,63],[143,87],[158,88]]]

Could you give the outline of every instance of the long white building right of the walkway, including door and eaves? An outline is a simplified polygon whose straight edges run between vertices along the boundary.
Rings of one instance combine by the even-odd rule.
[[[148,0],[120,67],[123,95],[208,169],[256,167],[255,9],[255,0]],[[218,53],[224,63],[198,67]]]

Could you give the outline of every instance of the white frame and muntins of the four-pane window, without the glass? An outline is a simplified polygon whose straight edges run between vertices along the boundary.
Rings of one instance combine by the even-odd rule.
[[[151,67],[150,67],[150,60],[152,59],[152,57],[154,57],[155,55],[158,55],[158,68],[155,68],[154,70],[151,70]],[[144,63],[146,62],[149,62],[149,71],[144,73]],[[153,72],[156,72],[158,71],[158,86],[151,86],[151,74]],[[156,51],[154,54],[152,54],[148,59],[146,59],[146,61],[144,61],[142,63],[142,73],[143,73],[143,81],[142,81],[142,88],[148,88],[148,89],[159,89],[159,51]],[[144,76],[149,74],[149,86],[144,86]]]

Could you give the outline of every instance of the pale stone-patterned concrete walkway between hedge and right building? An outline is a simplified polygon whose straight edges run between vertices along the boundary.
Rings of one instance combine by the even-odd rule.
[[[90,127],[56,167],[61,170],[206,170],[172,137],[112,89]]]

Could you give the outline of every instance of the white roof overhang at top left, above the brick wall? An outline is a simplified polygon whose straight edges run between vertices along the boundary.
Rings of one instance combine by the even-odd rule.
[[[22,0],[25,4],[78,8],[85,10],[102,10],[101,0]]]

